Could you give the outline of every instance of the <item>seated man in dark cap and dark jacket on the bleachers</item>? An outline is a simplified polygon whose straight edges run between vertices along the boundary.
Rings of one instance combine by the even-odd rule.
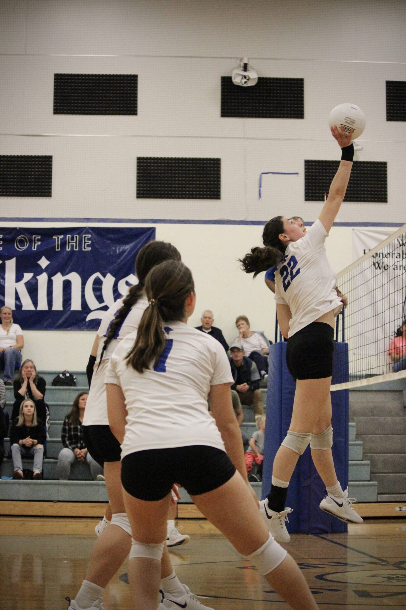
[[[254,407],[255,415],[264,415],[264,399],[259,389],[260,376],[256,364],[244,356],[241,343],[236,342],[230,348],[231,374],[234,384],[231,390],[236,390],[240,403]]]

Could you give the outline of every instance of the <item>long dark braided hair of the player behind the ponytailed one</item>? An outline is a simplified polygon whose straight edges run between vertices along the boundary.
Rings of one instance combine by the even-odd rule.
[[[164,262],[164,260],[170,259],[181,260],[180,252],[177,248],[175,248],[175,246],[172,246],[172,243],[154,241],[146,243],[145,246],[142,246],[135,260],[135,274],[138,278],[138,284],[131,286],[130,290],[128,290],[122,306],[117,311],[116,317],[108,328],[107,338],[104,342],[103,350],[100,354],[99,366],[97,368],[100,367],[103,354],[107,350],[111,339],[116,337],[116,334],[121,328],[121,325],[127,317],[128,312],[130,312],[131,307],[133,307],[141,298],[142,293],[144,292],[145,278],[147,277],[149,271],[155,267],[155,265],[159,265],[159,263]]]

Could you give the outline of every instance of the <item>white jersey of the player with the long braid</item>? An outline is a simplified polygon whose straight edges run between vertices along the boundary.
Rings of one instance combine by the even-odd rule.
[[[103,359],[100,363],[100,354],[102,353],[103,343],[108,334],[108,329],[111,322],[114,320],[118,310],[122,306],[122,299],[116,301],[102,317],[100,322],[99,330],[99,347],[97,349],[96,364],[94,365],[93,378],[89,390],[88,401],[86,403],[85,415],[83,416],[83,425],[85,426],[108,426],[107,417],[107,399],[106,399],[106,386],[104,384],[104,376],[107,370],[108,361],[110,360],[111,354],[113,354],[119,342],[131,332],[138,329],[139,321],[142,318],[142,314],[148,306],[148,300],[146,296],[141,296],[135,305],[131,307],[127,314],[127,317],[122,322],[122,325],[116,332],[116,338],[111,339],[108,344],[107,350],[103,353]]]

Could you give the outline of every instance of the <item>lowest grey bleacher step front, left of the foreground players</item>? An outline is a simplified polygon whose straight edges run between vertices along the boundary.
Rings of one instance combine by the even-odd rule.
[[[102,481],[2,481],[0,500],[108,502]]]

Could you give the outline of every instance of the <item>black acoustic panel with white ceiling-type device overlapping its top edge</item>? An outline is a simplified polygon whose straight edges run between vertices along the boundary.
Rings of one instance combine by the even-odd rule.
[[[304,118],[304,79],[259,78],[240,87],[222,76],[222,117]]]

